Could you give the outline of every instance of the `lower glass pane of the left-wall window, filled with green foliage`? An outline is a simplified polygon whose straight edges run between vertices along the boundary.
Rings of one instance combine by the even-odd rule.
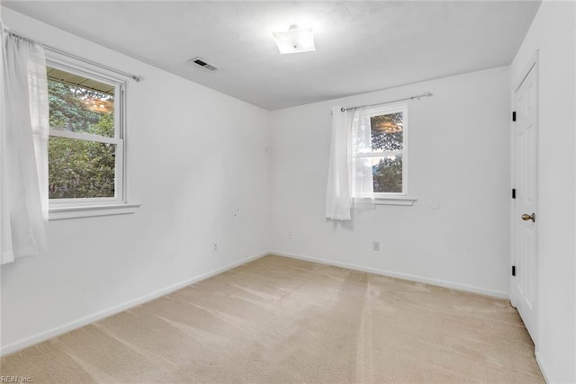
[[[50,137],[49,198],[114,197],[116,146]]]

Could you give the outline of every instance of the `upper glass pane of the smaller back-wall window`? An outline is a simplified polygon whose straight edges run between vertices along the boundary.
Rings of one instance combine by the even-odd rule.
[[[404,116],[402,112],[372,116],[372,150],[395,151],[403,149]]]

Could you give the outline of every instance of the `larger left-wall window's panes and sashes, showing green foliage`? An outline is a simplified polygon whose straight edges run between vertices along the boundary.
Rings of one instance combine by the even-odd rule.
[[[121,84],[47,67],[49,199],[122,200]]]

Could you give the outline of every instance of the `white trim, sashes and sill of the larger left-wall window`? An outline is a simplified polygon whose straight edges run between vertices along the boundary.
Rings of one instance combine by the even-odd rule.
[[[49,219],[75,219],[93,216],[133,213],[139,204],[129,204],[126,185],[126,81],[109,71],[74,59],[63,58],[58,53],[46,52],[46,65],[71,74],[85,76],[105,84],[114,85],[114,137],[49,129],[49,136],[73,138],[112,144],[116,147],[114,166],[114,196],[102,198],[49,199]]]

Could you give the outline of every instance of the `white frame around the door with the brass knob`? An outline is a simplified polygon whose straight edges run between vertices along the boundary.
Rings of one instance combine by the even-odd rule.
[[[535,105],[536,105],[536,118],[535,118],[535,126],[534,129],[535,130],[535,169],[534,169],[534,176],[535,176],[535,212],[536,212],[536,220],[539,217],[539,203],[538,203],[538,197],[539,197],[539,186],[538,186],[538,180],[539,180],[539,172],[538,172],[538,159],[539,159],[539,141],[540,141],[540,86],[539,86],[539,49],[536,49],[536,52],[532,55],[532,57],[527,61],[527,65],[524,67],[524,69],[522,70],[522,72],[520,72],[520,76],[518,76],[516,82],[513,84],[513,88],[512,88],[512,96],[511,96],[511,101],[513,103],[512,105],[512,110],[516,110],[516,94],[518,93],[518,90],[520,88],[520,86],[524,83],[524,80],[527,78],[528,74],[530,73],[531,70],[535,71],[535,89],[536,89],[536,101],[535,101]],[[516,174],[515,174],[515,170],[516,170],[516,146],[515,146],[515,122],[512,121],[511,122],[511,129],[510,129],[510,157],[511,157],[511,177],[510,177],[510,181],[511,181],[511,188],[516,188]],[[514,235],[514,230],[515,230],[515,220],[518,220],[518,218],[516,217],[516,212],[515,212],[515,201],[512,201],[512,203],[510,204],[510,265],[515,265],[516,264],[516,260],[514,259],[515,257],[515,241],[516,241],[516,237]],[[537,222],[537,221],[536,221]],[[538,236],[539,235],[539,231],[538,231],[538,226],[536,225],[534,227],[534,242],[535,242],[535,270],[536,270],[536,277],[535,277],[535,281],[536,281],[536,287],[535,287],[535,302],[534,302],[534,313],[536,315],[536,318],[534,319],[535,321],[535,328],[533,329],[533,334],[534,335],[530,335],[532,337],[532,341],[534,342],[535,345],[535,353],[537,353],[538,351],[538,335],[539,335],[539,327],[540,327],[540,314],[539,314],[539,308],[540,308],[540,290],[539,290],[539,264],[538,260],[539,260],[539,252],[538,252],[538,248],[539,248],[539,241],[538,241]],[[512,276],[512,274],[510,273],[510,304],[512,305],[512,307],[516,308],[516,303],[514,302],[514,295],[513,295],[513,284],[515,283],[514,281],[515,276]]]

